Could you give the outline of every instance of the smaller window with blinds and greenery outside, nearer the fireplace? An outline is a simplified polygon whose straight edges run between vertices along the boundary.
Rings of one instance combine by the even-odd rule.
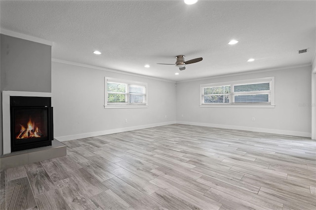
[[[147,83],[105,77],[104,107],[147,107]]]

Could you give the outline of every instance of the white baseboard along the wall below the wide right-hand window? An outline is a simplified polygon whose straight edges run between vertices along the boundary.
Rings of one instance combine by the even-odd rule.
[[[297,137],[309,137],[309,138],[312,137],[311,133],[300,132],[300,131],[285,131],[285,130],[276,130],[276,129],[267,129],[267,128],[252,128],[252,127],[244,127],[244,126],[185,122],[185,121],[177,121],[177,124],[197,125],[197,126],[205,126],[205,127],[213,127],[213,128],[226,128],[226,129],[242,130],[242,131],[254,131],[254,132],[261,132],[261,133],[281,134],[281,135],[289,135],[289,136],[297,136]]]

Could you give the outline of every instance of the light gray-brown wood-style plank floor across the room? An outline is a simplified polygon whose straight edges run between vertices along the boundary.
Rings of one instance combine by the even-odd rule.
[[[0,173],[4,210],[315,210],[316,141],[168,125]]]

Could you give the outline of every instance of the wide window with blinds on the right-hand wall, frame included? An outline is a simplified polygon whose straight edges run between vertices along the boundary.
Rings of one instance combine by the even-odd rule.
[[[200,106],[274,107],[274,77],[200,85]]]

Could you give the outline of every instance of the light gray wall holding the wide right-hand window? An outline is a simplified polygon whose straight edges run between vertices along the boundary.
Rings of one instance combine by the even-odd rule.
[[[177,123],[311,137],[311,71],[308,66],[177,83]],[[199,107],[200,84],[270,76],[275,108]]]

